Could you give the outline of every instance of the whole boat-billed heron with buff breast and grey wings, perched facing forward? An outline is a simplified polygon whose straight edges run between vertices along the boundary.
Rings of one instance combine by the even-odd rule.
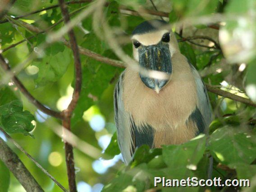
[[[114,90],[118,144],[125,164],[136,147],[181,144],[206,133],[211,122],[206,87],[166,24],[151,20],[134,29],[133,57],[139,70],[128,65]],[[145,69],[164,72],[168,78],[147,76]]]

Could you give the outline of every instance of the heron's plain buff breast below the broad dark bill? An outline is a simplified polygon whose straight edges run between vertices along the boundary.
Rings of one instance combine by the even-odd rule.
[[[195,109],[197,91],[189,65],[177,66],[175,58],[173,62],[172,79],[158,94],[143,84],[137,72],[126,69],[123,104],[137,125],[146,123],[156,131],[175,129],[182,127]]]

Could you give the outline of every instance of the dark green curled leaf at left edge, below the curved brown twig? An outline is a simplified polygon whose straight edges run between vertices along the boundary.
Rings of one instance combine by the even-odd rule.
[[[0,106],[0,125],[7,133],[31,135],[29,132],[35,127],[32,120],[35,120],[34,116],[29,111],[23,111],[19,100]]]

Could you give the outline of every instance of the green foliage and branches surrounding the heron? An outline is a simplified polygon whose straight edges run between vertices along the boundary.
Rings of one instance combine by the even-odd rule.
[[[213,177],[248,178],[251,187],[242,190],[256,190],[255,0],[0,4],[1,192],[155,191],[154,176],[206,179],[208,155]],[[115,134],[114,84],[123,67],[134,64],[127,57],[129,35],[152,18],[169,21],[207,84],[215,119],[209,137],[163,149],[142,146],[125,167]]]

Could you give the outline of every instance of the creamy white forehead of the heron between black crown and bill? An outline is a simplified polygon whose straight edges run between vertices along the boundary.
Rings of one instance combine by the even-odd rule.
[[[132,36],[133,41],[139,41],[144,46],[155,45],[161,41],[163,35],[169,32],[167,29],[153,31],[144,34],[135,34]]]

